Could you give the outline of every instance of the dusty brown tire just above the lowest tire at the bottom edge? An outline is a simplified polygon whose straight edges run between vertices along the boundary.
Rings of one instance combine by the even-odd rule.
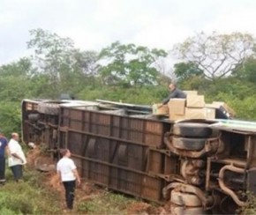
[[[202,205],[198,196],[190,193],[182,193],[174,189],[170,193],[170,202],[186,207],[199,207]]]

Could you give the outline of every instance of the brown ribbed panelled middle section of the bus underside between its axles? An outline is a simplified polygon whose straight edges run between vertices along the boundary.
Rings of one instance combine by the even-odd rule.
[[[59,116],[41,115],[41,122],[56,126],[58,147],[71,150],[83,178],[161,201],[162,179],[148,174],[147,162],[151,162],[151,170],[161,173],[164,154],[152,155],[149,160],[147,156],[149,146],[162,147],[163,134],[168,130],[162,122],[72,107],[60,107]],[[51,129],[42,132],[44,141],[51,138]]]

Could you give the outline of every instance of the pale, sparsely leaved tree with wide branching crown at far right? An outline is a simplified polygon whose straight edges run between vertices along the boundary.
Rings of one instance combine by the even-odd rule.
[[[204,70],[206,78],[215,81],[229,75],[245,58],[255,54],[255,38],[249,33],[198,33],[177,44],[174,54]]]

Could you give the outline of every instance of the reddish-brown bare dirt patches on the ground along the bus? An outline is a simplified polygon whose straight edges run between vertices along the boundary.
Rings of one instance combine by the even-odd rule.
[[[53,160],[46,155],[43,155],[38,148],[30,150],[27,153],[27,165],[29,167],[35,167],[37,170],[41,171],[43,174],[47,174],[47,181],[44,182],[45,186],[56,189],[60,192],[60,196],[62,196],[63,201],[61,207],[64,208],[64,213],[71,214],[65,210],[64,205],[64,187],[62,183],[59,182],[58,176],[55,170],[55,163]],[[81,202],[90,201],[95,196],[101,196],[106,192],[106,189],[102,189],[91,182],[87,182],[82,180],[81,185],[78,189],[76,189],[75,196],[75,204],[79,204]],[[142,201],[132,201],[132,204],[129,204],[126,214],[140,214],[140,215],[149,215],[149,214],[170,214],[169,206],[154,206],[151,204],[144,203]],[[76,214],[76,211],[72,211],[72,214]]]

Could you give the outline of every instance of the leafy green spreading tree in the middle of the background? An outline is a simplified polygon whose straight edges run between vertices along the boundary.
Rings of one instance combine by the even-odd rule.
[[[164,56],[167,53],[162,49],[123,45],[116,41],[102,49],[99,72],[107,85],[152,85],[159,75],[154,63]]]

